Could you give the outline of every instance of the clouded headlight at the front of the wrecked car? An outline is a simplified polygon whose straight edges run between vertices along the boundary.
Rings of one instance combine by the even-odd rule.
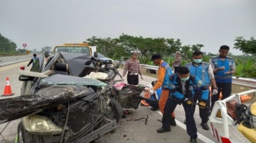
[[[30,115],[22,118],[24,129],[30,134],[36,135],[59,135],[62,128],[56,126],[53,121],[46,116]]]

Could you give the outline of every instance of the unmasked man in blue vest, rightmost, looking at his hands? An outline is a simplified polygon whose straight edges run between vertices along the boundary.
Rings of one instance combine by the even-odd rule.
[[[219,56],[214,56],[209,63],[213,67],[214,78],[218,93],[211,98],[211,108],[216,100],[219,100],[219,93],[222,92],[222,100],[230,96],[232,91],[232,75],[235,74],[235,61],[228,56],[229,46],[222,45],[219,48]]]

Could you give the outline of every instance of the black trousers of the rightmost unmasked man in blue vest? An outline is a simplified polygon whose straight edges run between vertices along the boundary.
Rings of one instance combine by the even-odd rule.
[[[232,82],[229,82],[229,83],[216,82],[216,85],[218,87],[218,94],[212,95],[211,108],[213,108],[213,105],[216,102],[216,100],[219,100],[220,92],[222,92],[222,100],[224,100],[231,95],[231,91],[232,91]]]

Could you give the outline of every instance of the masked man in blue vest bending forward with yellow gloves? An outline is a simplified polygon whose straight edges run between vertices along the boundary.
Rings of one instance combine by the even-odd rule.
[[[194,87],[200,87],[202,95],[198,105],[201,108],[206,106],[209,96],[209,87],[199,78],[190,75],[187,67],[180,67],[177,74],[169,77],[171,86],[170,97],[165,103],[165,112],[162,117],[162,128],[158,133],[171,132],[171,116],[178,104],[182,104],[187,121],[187,134],[190,135],[190,142],[197,142],[197,126],[193,115],[192,100],[194,97]]]

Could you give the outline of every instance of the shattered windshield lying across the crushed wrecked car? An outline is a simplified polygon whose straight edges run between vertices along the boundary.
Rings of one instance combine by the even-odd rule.
[[[50,86],[50,85],[91,85],[98,87],[105,87],[105,84],[102,81],[99,81],[94,78],[80,78],[70,75],[51,75],[50,77],[43,78],[40,81],[40,86]]]

